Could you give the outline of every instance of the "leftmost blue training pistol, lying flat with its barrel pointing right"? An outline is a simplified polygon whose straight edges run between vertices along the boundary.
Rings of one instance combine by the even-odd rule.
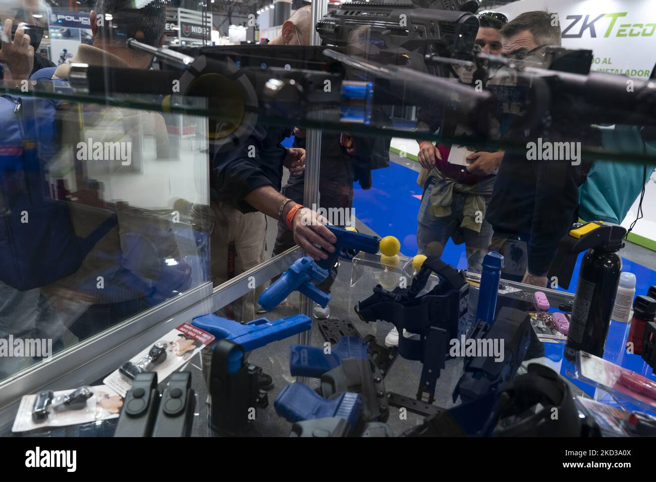
[[[309,330],[312,327],[312,319],[305,315],[294,315],[275,321],[259,318],[242,325],[237,321],[211,314],[195,317],[192,325],[213,334],[216,341],[226,339],[241,345],[243,353],[246,353]],[[239,367],[241,357],[231,359],[228,373],[237,371]]]

